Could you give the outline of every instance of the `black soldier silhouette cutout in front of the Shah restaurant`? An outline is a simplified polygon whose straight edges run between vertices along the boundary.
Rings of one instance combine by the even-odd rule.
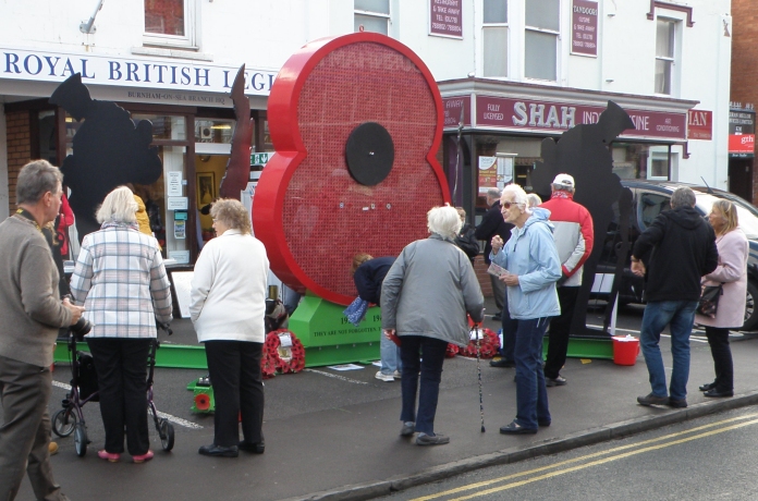
[[[623,203],[624,207],[620,207],[620,210],[622,213],[628,213],[627,206],[631,205],[632,193],[622,186],[621,180],[613,173],[613,158],[608,148],[619,134],[628,129],[635,126],[626,111],[615,102],[608,101],[608,107],[600,114],[598,123],[576,125],[564,132],[558,143],[552,138],[543,139],[542,161],[537,162],[531,174],[534,190],[543,199],[550,198],[550,183],[555,175],[573,175],[576,182],[574,201],[585,206],[592,216],[595,246],[584,265],[582,288],[576,298],[576,311],[571,326],[572,335],[588,333],[587,303],[606,234],[613,221],[613,204]],[[622,197],[623,192],[628,193]],[[627,224],[628,216],[622,217],[621,223]],[[621,233],[625,231],[624,228],[621,229]],[[623,254],[627,250],[622,246],[618,253]],[[618,280],[615,282],[618,284]]]

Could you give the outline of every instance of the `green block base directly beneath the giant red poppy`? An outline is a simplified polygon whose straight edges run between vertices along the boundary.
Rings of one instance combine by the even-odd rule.
[[[381,309],[369,308],[358,327],[342,314],[344,306],[307,294],[290,318],[290,330],[305,347],[305,366],[379,359]]]

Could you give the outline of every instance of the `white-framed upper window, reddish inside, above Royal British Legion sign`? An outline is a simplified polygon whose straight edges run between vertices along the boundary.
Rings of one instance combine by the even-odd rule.
[[[145,45],[196,48],[196,0],[145,0]]]

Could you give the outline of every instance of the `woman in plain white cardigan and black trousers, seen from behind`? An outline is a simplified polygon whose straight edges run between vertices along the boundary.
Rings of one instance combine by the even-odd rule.
[[[198,452],[223,457],[236,457],[240,450],[261,454],[260,358],[269,261],[264,244],[252,235],[249,215],[240,201],[217,200],[210,216],[218,236],[205,245],[195,264],[190,305],[216,398],[213,443]]]

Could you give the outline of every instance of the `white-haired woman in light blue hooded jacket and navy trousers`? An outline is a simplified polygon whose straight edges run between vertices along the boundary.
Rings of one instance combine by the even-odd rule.
[[[550,426],[551,421],[542,372],[542,337],[550,317],[561,314],[555,291],[561,261],[548,221],[549,210],[529,207],[526,193],[516,184],[505,186],[500,206],[505,222],[515,228],[504,246],[499,235],[492,237],[490,259],[505,270],[500,280],[508,286],[511,318],[517,321],[516,418],[500,432],[536,433],[539,426]]]

